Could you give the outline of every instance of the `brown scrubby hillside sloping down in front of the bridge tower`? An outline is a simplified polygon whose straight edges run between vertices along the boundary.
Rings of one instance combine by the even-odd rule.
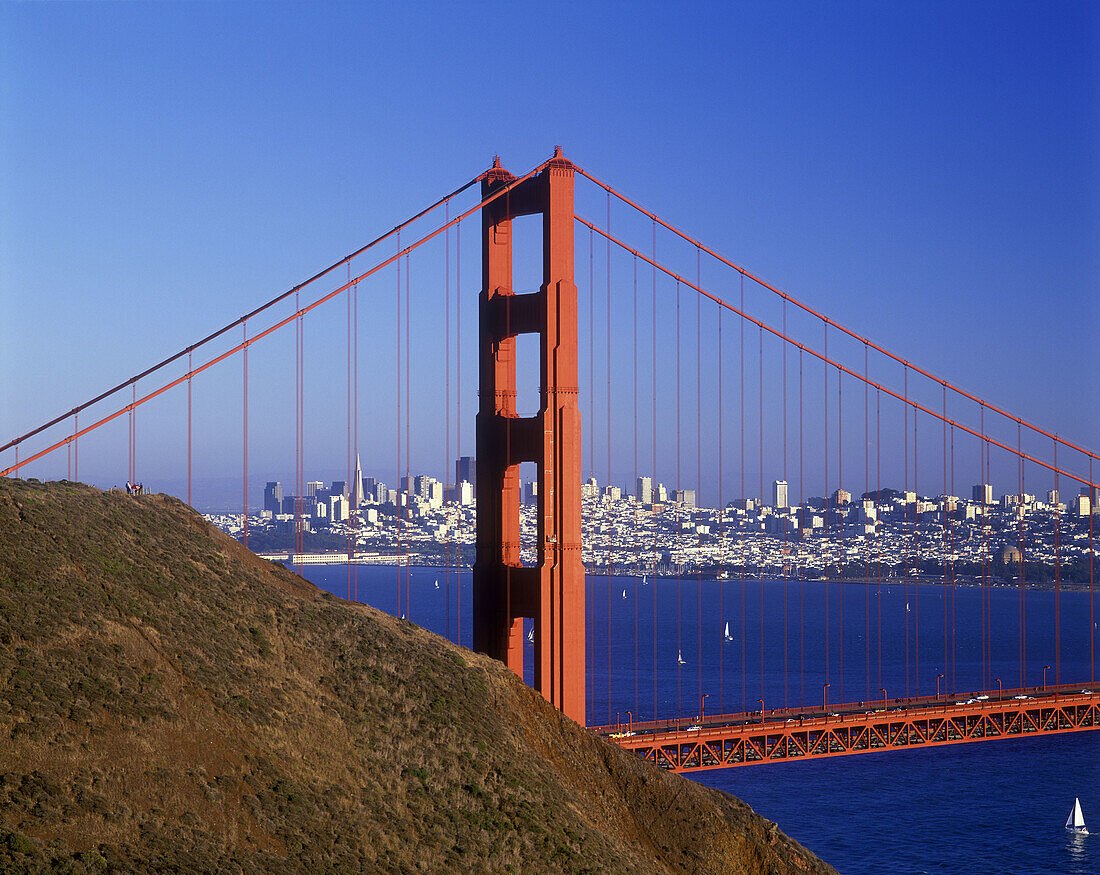
[[[833,872],[175,499],[0,479],[0,871]]]

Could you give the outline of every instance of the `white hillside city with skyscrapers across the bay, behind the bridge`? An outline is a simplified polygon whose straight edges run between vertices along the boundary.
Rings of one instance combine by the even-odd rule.
[[[302,495],[277,481],[264,489],[264,508],[249,515],[249,546],[273,558],[471,566],[474,559],[475,462],[455,462],[453,483],[404,477],[391,486],[363,477],[356,459],[350,481],[309,481]],[[536,561],[537,483],[520,507],[522,560]],[[635,575],[752,572],[806,578],[845,576],[1019,580],[1042,584],[1057,569],[1065,583],[1088,581],[1093,515],[1088,494],[1063,497],[1004,494],[972,486],[967,496],[925,496],[883,489],[853,496],[838,489],[790,501],[774,481],[767,499],[737,499],[722,508],[698,506],[691,489],[670,490],[639,477],[634,490],[581,488],[584,564],[590,571]],[[241,514],[212,514],[235,537]],[[1090,526],[1090,522],[1092,525]],[[1100,535],[1100,531],[1096,533]],[[300,536],[300,537],[299,537]]]

